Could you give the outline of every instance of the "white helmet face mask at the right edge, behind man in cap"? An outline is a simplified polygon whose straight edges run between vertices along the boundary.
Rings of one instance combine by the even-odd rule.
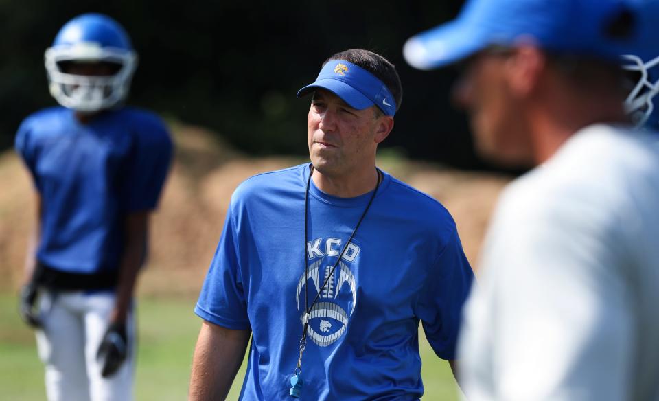
[[[659,93],[659,56],[645,62],[639,56],[623,56],[623,69],[634,73],[636,82],[625,99],[625,109],[637,127],[659,128],[654,96]]]

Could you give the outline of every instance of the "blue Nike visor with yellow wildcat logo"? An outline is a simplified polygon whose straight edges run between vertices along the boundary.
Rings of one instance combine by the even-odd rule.
[[[297,97],[308,95],[316,88],[327,89],[357,110],[375,105],[385,115],[393,117],[396,113],[396,101],[386,85],[369,71],[345,60],[329,60],[316,82],[300,89]]]

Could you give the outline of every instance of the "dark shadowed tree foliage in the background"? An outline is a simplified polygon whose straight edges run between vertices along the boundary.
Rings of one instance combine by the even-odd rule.
[[[445,1],[43,1],[0,0],[0,147],[26,115],[55,102],[47,93],[43,51],[83,12],[103,12],[126,27],[140,62],[129,103],[208,126],[253,154],[304,154],[312,82],[325,58],[361,47],[393,62],[404,100],[386,146],[411,157],[481,167],[461,113],[450,106],[454,73],[406,65],[413,34],[453,18]]]

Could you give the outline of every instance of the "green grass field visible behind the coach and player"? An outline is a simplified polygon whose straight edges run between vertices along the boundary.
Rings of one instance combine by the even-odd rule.
[[[139,354],[136,400],[185,400],[192,352],[200,327],[194,299],[141,297],[138,307]],[[448,364],[433,354],[421,336],[424,401],[457,400]],[[244,376],[243,365],[228,400],[236,400]],[[0,293],[0,398],[44,400],[43,367],[36,355],[34,335],[16,313],[16,297]]]

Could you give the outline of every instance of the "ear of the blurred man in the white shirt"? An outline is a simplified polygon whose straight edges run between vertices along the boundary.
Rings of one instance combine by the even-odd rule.
[[[537,87],[546,65],[546,56],[533,44],[520,44],[506,63],[509,87],[514,95],[526,98]]]

